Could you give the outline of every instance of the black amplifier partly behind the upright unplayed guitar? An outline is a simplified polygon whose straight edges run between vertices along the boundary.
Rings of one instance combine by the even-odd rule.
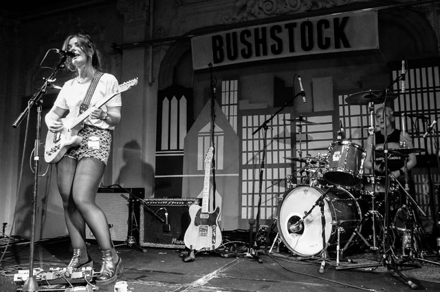
[[[140,246],[184,249],[189,207],[201,198],[147,198],[140,204]],[[165,216],[168,213],[168,219]],[[168,220],[169,228],[167,228]]]

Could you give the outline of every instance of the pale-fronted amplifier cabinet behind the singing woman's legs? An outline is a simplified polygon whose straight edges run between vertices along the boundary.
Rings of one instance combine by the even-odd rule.
[[[139,205],[143,198],[145,198],[144,188],[98,189],[96,204],[107,216],[111,240],[125,241],[130,235],[139,240],[139,232],[133,229],[133,225],[139,222]],[[130,232],[130,229],[133,232]],[[86,238],[96,239],[87,225]]]

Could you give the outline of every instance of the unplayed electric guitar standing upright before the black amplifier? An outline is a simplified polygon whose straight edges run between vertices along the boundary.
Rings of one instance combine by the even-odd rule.
[[[205,178],[203,180],[203,195],[201,207],[193,204],[189,208],[190,225],[186,229],[184,242],[190,250],[217,249],[221,244],[221,230],[219,227],[220,207],[217,206],[209,213],[210,165],[214,147],[210,147],[205,156]],[[215,195],[214,195],[215,196]]]

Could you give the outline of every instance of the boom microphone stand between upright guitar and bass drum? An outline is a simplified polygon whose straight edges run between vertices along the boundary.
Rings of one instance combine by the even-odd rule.
[[[274,114],[272,114],[272,116],[270,118],[268,118],[266,121],[264,121],[261,125],[259,125],[258,128],[256,128],[254,130],[254,132],[252,133],[252,135],[255,135],[256,133],[258,133],[261,129],[264,129],[264,134],[263,134],[263,154],[261,157],[261,166],[260,166],[260,176],[259,176],[259,204],[257,207],[257,211],[256,211],[256,220],[255,220],[255,236],[253,236],[253,222],[254,220],[252,220],[252,224],[251,228],[250,228],[250,242],[249,242],[249,249],[248,249],[248,253],[250,255],[251,258],[254,258],[256,260],[259,261],[259,263],[262,263],[263,261],[259,258],[259,252],[256,251],[256,249],[259,247],[259,244],[256,242],[256,237],[258,235],[259,229],[260,229],[260,211],[261,211],[261,196],[262,196],[262,191],[263,191],[263,173],[264,173],[264,168],[265,168],[265,158],[266,158],[266,149],[267,149],[267,129],[269,128],[269,126],[267,126],[268,123],[270,123],[270,121],[272,121],[272,119],[282,110],[285,109],[285,107],[287,107],[287,105],[289,105],[289,103],[292,103],[294,101],[294,99],[297,96],[302,95],[303,92],[298,92],[293,98],[291,98],[289,101],[285,102],[283,104],[283,106],[277,110],[276,112],[274,112]],[[250,220],[251,222],[251,220]]]

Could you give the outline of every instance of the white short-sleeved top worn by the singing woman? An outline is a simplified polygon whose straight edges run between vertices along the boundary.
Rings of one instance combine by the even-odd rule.
[[[80,105],[83,102],[85,94],[89,89],[89,85],[91,83],[91,79],[86,81],[85,83],[78,83],[77,79],[70,79],[64,83],[63,88],[61,88],[54,105],[62,108],[63,110],[69,110],[69,114],[67,118],[76,117],[80,114]],[[113,96],[114,92],[118,92],[118,80],[115,76],[111,74],[104,73],[98,85],[96,85],[96,90],[94,91],[93,96],[91,96],[91,100],[89,103],[89,107],[100,103],[105,99]],[[102,110],[107,111],[107,106],[109,107],[118,107],[122,105],[121,94],[116,94],[111,98],[105,105],[102,106]],[[86,118],[84,121],[87,125],[94,125],[96,127],[100,127],[101,129],[114,129],[114,126],[111,126],[105,121],[95,118]]]

